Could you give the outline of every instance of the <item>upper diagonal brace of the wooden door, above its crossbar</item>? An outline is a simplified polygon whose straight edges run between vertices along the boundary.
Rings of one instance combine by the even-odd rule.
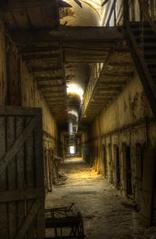
[[[0,159],[0,174],[3,173],[8,163],[16,155],[23,143],[27,140],[36,124],[36,119],[32,119],[28,126],[24,129],[23,133],[19,136],[14,144],[10,147],[9,151]]]

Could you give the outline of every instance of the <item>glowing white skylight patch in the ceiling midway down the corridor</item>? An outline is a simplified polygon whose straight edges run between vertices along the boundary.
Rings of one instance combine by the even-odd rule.
[[[78,84],[75,84],[75,83],[67,84],[67,95],[70,95],[70,94],[78,95],[82,101],[83,93],[84,93],[84,90]]]

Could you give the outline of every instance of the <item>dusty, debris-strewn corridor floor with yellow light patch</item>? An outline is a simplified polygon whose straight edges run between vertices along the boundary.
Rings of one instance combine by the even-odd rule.
[[[83,214],[89,239],[144,238],[138,213],[102,176],[80,159],[66,161],[64,171],[68,179],[47,195],[47,208],[74,202]]]

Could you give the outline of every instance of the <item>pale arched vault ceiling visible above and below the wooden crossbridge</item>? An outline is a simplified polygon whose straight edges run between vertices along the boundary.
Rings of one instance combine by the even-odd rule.
[[[102,16],[101,0],[62,0],[60,24],[65,26],[99,26]],[[86,63],[66,64],[65,74],[69,84],[78,84],[84,91],[89,80],[89,65]]]

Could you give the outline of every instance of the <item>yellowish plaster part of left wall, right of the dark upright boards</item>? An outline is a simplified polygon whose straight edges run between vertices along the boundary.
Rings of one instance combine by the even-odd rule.
[[[23,106],[42,108],[45,190],[52,191],[52,167],[54,155],[57,154],[57,125],[38,88],[37,81],[33,75],[29,73],[24,62],[21,62],[21,98]]]

